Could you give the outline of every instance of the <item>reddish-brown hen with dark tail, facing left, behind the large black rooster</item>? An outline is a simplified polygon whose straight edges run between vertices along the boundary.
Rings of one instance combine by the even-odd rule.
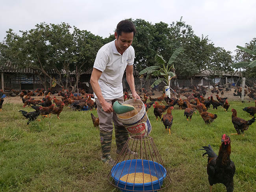
[[[231,135],[240,135],[241,132],[244,135],[244,131],[248,129],[248,127],[255,122],[255,117],[253,117],[252,119],[246,121],[242,118],[237,117],[237,112],[236,109],[231,109],[232,113],[232,123],[236,129],[237,133],[233,133]]]

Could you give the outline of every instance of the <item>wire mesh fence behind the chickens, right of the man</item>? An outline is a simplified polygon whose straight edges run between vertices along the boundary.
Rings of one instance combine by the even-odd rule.
[[[156,79],[135,78],[135,89],[139,95],[146,94],[152,97],[161,96],[166,84],[161,82],[159,85],[151,87]],[[128,82],[124,78],[124,91],[130,92]],[[205,98],[218,94],[227,97],[231,101],[256,100],[256,77],[245,78],[244,98],[242,97],[243,78],[242,77],[194,77],[190,79],[172,78],[170,81],[171,97],[187,98],[193,93],[200,93]]]

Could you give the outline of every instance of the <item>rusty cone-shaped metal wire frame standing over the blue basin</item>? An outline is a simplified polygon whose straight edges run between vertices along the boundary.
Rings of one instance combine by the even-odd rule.
[[[128,150],[130,149],[130,150]],[[134,155],[132,155],[132,151],[134,151]],[[119,185],[120,179],[121,179],[121,175],[124,171],[124,167],[125,164],[128,160],[130,160],[131,158],[135,159],[135,172],[134,174],[136,175],[136,170],[137,170],[137,160],[141,159],[141,163],[142,163],[142,170],[144,173],[144,166],[143,166],[143,160],[147,160],[148,162],[148,168],[149,168],[149,174],[150,174],[150,179],[151,179],[151,185],[152,185],[152,189],[153,191],[159,191],[162,190],[164,188],[167,188],[169,185],[171,185],[171,178],[166,170],[166,168],[164,167],[163,161],[161,159],[161,156],[156,148],[156,145],[154,144],[154,141],[151,137],[147,136],[131,136],[130,138],[128,138],[124,148],[121,151],[121,154],[119,155],[117,161],[115,162],[113,168],[111,169],[111,171],[109,172],[108,175],[108,181],[111,183],[111,185],[121,189],[121,190],[125,190],[125,191],[134,191],[134,192],[138,192],[138,191],[142,191],[142,190],[135,190],[135,183],[133,184],[133,189],[127,189],[126,185],[127,185],[127,179],[126,178],[126,184],[124,186],[124,188],[121,188]],[[151,170],[150,170],[150,164],[149,162],[152,161],[154,164],[153,170],[156,172],[156,177],[158,178],[158,185],[160,186],[160,189],[154,189],[153,183],[152,183],[152,175],[151,175]],[[121,170],[121,174],[119,177],[119,180],[117,182],[117,184],[114,183],[114,178],[111,177],[112,172],[114,171],[115,166],[117,166],[118,162],[124,162],[124,166]],[[156,162],[156,164],[155,164]],[[127,162],[129,163],[129,162]],[[145,162],[144,162],[145,163]],[[163,170],[164,172],[162,172],[160,164],[163,166]],[[119,170],[121,164],[119,164],[117,170]],[[128,170],[128,176],[129,174],[131,174],[130,169],[131,169],[131,165],[132,165],[132,161],[130,161],[130,165],[129,165],[129,170]],[[158,172],[156,171],[156,166],[159,167],[161,174],[158,174]],[[117,174],[117,170],[114,173],[114,177]],[[139,173],[139,172],[137,172]],[[163,180],[163,185],[160,185],[160,181],[159,178],[163,177],[163,175],[166,174],[166,178]],[[111,179],[112,178],[112,179]],[[135,182],[135,176],[134,176],[134,182]],[[144,186],[144,175],[143,175],[143,192],[149,192],[152,190],[145,190],[145,186]]]

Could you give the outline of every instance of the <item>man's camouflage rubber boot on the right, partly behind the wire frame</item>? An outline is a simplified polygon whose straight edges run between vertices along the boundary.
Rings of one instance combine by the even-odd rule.
[[[126,141],[129,138],[129,133],[125,127],[115,126],[115,142],[117,144],[117,154],[120,155],[122,148],[126,144]],[[130,154],[130,149],[124,150],[124,153]],[[132,151],[131,155],[134,155],[135,152]]]

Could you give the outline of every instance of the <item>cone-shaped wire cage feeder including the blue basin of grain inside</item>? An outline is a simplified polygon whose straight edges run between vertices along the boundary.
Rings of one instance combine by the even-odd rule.
[[[130,136],[108,175],[111,185],[123,192],[154,192],[171,185],[153,138]]]

